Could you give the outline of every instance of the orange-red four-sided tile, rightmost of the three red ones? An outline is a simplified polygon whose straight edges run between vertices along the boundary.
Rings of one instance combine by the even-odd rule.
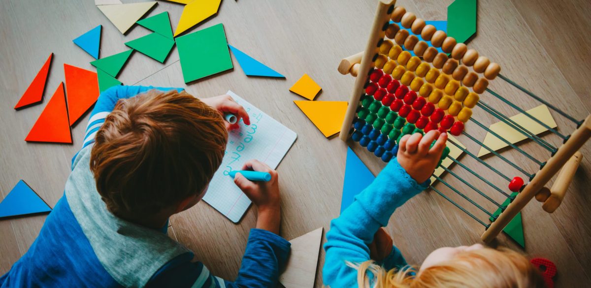
[[[99,98],[99,80],[93,71],[68,64],[64,64],[64,74],[70,126],[73,126]]]

